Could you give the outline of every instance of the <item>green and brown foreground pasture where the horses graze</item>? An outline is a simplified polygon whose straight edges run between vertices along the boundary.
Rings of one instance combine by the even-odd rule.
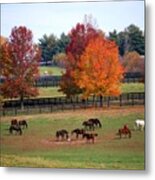
[[[81,128],[90,117],[101,120],[95,144],[84,140],[55,141],[58,129]],[[144,169],[144,132],[132,131],[131,139],[119,139],[118,128],[133,129],[134,120],[144,118],[144,107],[88,109],[52,114],[18,116],[29,127],[22,136],[9,135],[10,117],[1,119],[1,165],[21,167]]]

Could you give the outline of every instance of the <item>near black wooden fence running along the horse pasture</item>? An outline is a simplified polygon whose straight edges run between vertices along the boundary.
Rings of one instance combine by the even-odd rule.
[[[111,107],[111,106],[134,106],[145,104],[145,93],[123,93],[120,96],[106,96],[102,98],[90,96],[82,99],[79,96],[74,98],[55,97],[25,99],[24,110],[20,109],[19,100],[5,101],[0,115],[35,114],[63,110],[76,110],[86,108]]]

